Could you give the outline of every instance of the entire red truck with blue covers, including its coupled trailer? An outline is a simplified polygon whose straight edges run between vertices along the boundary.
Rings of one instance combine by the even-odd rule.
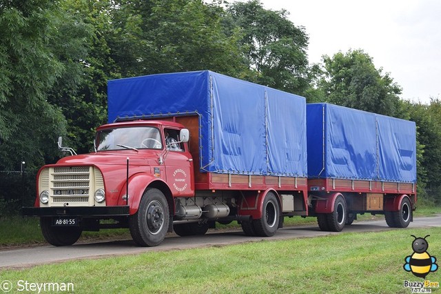
[[[342,231],[358,214],[406,227],[416,208],[411,121],[331,104],[209,70],[108,82],[94,152],[37,174],[34,207],[54,246],[129,228],[139,246],[237,221],[270,237],[284,217]]]

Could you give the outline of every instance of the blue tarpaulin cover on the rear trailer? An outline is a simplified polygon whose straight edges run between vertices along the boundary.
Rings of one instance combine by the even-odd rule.
[[[416,125],[332,104],[307,105],[308,177],[416,182]]]

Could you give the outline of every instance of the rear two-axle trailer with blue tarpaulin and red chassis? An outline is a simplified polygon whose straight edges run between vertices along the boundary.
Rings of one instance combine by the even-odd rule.
[[[416,208],[416,124],[335,106],[307,105],[309,203],[322,231],[358,214],[404,228]]]

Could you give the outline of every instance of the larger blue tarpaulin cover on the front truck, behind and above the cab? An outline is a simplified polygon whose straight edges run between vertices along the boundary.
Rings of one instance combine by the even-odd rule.
[[[108,82],[109,122],[198,115],[202,171],[307,176],[304,97],[208,70]]]

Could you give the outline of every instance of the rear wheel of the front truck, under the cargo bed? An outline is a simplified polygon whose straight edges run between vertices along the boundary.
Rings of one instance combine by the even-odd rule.
[[[253,220],[256,236],[273,236],[278,229],[279,218],[280,206],[278,205],[277,197],[274,193],[269,192],[263,200],[262,218]]]

